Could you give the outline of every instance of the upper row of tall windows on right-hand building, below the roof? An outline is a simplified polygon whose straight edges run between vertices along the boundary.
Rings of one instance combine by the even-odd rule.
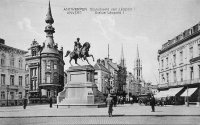
[[[190,53],[190,59],[193,58],[193,47],[190,47],[189,48],[189,53]],[[200,56],[200,44],[198,44],[198,56]],[[176,54],[173,54],[173,62],[172,64],[175,66],[176,65],[176,61],[177,61],[177,58],[176,58]],[[183,63],[183,50],[179,52],[179,59],[180,59],[180,63]],[[169,67],[169,58],[166,57],[166,68]],[[164,68],[164,59],[161,60],[161,69]]]

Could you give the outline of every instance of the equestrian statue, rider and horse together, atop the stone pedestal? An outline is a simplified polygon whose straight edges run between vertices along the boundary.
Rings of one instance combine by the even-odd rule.
[[[87,57],[92,57],[93,61],[94,61],[93,55],[89,54],[90,43],[85,42],[82,46],[81,43],[79,42],[79,40],[80,40],[80,38],[77,38],[77,41],[74,42],[74,50],[72,52],[68,50],[65,57],[67,57],[68,55],[70,56],[70,60],[69,60],[70,64],[71,64],[72,59],[74,59],[75,64],[79,65],[77,63],[77,60],[82,59],[82,60],[86,60],[87,63],[90,65]]]

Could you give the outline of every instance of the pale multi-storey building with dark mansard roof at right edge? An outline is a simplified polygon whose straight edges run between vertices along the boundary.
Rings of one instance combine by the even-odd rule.
[[[160,90],[180,88],[174,95],[200,99],[200,23],[163,44],[158,61]]]

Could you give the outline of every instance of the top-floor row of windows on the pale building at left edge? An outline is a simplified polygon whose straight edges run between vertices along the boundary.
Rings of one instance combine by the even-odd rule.
[[[1,54],[1,66],[5,66],[6,64],[6,56],[5,54]],[[15,58],[14,57],[11,57],[10,58],[10,66],[11,67],[14,67],[15,66]],[[18,59],[18,67],[19,68],[23,68],[23,60],[22,58]]]

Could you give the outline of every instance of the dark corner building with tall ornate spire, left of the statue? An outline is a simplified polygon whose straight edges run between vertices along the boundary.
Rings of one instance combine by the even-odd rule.
[[[63,48],[61,47],[59,50],[58,45],[54,43],[55,29],[52,26],[54,19],[51,14],[50,2],[45,21],[47,23],[44,30],[45,42],[41,46],[34,40],[26,56],[26,65],[29,71],[27,77],[30,81],[29,94],[32,102],[37,102],[41,97],[55,97],[64,86]]]

